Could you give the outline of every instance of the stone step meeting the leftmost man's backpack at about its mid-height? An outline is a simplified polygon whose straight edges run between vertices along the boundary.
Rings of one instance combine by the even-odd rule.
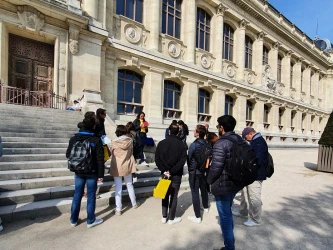
[[[22,162],[22,161],[52,161],[66,160],[65,154],[22,154],[22,155],[4,155],[0,157],[0,162]]]

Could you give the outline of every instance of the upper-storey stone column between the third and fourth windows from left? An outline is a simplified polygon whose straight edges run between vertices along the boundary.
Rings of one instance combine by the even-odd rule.
[[[222,71],[222,56],[223,56],[223,17],[228,8],[224,7],[222,3],[217,6],[215,16],[215,29],[214,29],[214,42],[213,54],[215,56],[214,71]]]

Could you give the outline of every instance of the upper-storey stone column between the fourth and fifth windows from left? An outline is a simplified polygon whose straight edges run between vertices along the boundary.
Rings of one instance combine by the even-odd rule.
[[[245,68],[245,29],[249,25],[249,22],[245,19],[239,22],[239,28],[237,29],[237,45],[235,47],[236,64],[237,64],[237,78],[243,81],[244,68]]]

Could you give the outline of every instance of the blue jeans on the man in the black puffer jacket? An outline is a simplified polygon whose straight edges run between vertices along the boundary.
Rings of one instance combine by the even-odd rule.
[[[235,249],[234,221],[232,218],[231,206],[236,193],[226,195],[215,195],[216,208],[219,213],[220,226],[226,250]]]

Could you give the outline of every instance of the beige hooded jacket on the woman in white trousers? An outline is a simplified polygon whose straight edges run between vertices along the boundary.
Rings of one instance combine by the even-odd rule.
[[[120,136],[111,143],[110,175],[119,177],[127,176],[135,172],[133,140],[126,135]]]

